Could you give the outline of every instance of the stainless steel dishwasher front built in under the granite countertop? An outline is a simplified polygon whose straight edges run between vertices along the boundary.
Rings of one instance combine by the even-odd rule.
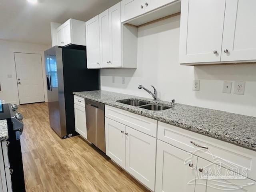
[[[87,139],[106,153],[104,104],[89,99],[85,104]]]

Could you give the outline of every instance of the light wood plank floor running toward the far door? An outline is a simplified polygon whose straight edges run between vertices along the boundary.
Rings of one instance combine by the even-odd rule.
[[[50,128],[47,103],[19,112],[27,192],[149,192],[80,136],[61,139]]]

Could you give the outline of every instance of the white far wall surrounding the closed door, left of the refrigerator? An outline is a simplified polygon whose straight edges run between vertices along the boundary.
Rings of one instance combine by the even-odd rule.
[[[1,100],[5,100],[6,103],[19,103],[14,52],[41,54],[44,69],[44,51],[48,48],[50,48],[50,46],[0,40],[0,83],[2,88],[2,92],[0,92]],[[8,78],[8,74],[12,75],[12,78]],[[45,82],[46,77],[45,73],[43,74],[45,97],[47,101]]]

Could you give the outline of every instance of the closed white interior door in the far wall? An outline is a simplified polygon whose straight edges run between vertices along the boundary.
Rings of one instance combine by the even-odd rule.
[[[14,53],[20,104],[44,102],[41,54]]]

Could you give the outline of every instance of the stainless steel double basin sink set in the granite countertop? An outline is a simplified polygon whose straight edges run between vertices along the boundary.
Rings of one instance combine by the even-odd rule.
[[[117,102],[135,106],[135,107],[139,107],[139,108],[143,108],[143,109],[152,110],[152,111],[162,111],[162,110],[171,108],[169,106],[152,104],[150,102],[146,102],[146,101],[142,101],[142,100],[138,100],[138,99],[125,99],[125,100],[118,100]]]

